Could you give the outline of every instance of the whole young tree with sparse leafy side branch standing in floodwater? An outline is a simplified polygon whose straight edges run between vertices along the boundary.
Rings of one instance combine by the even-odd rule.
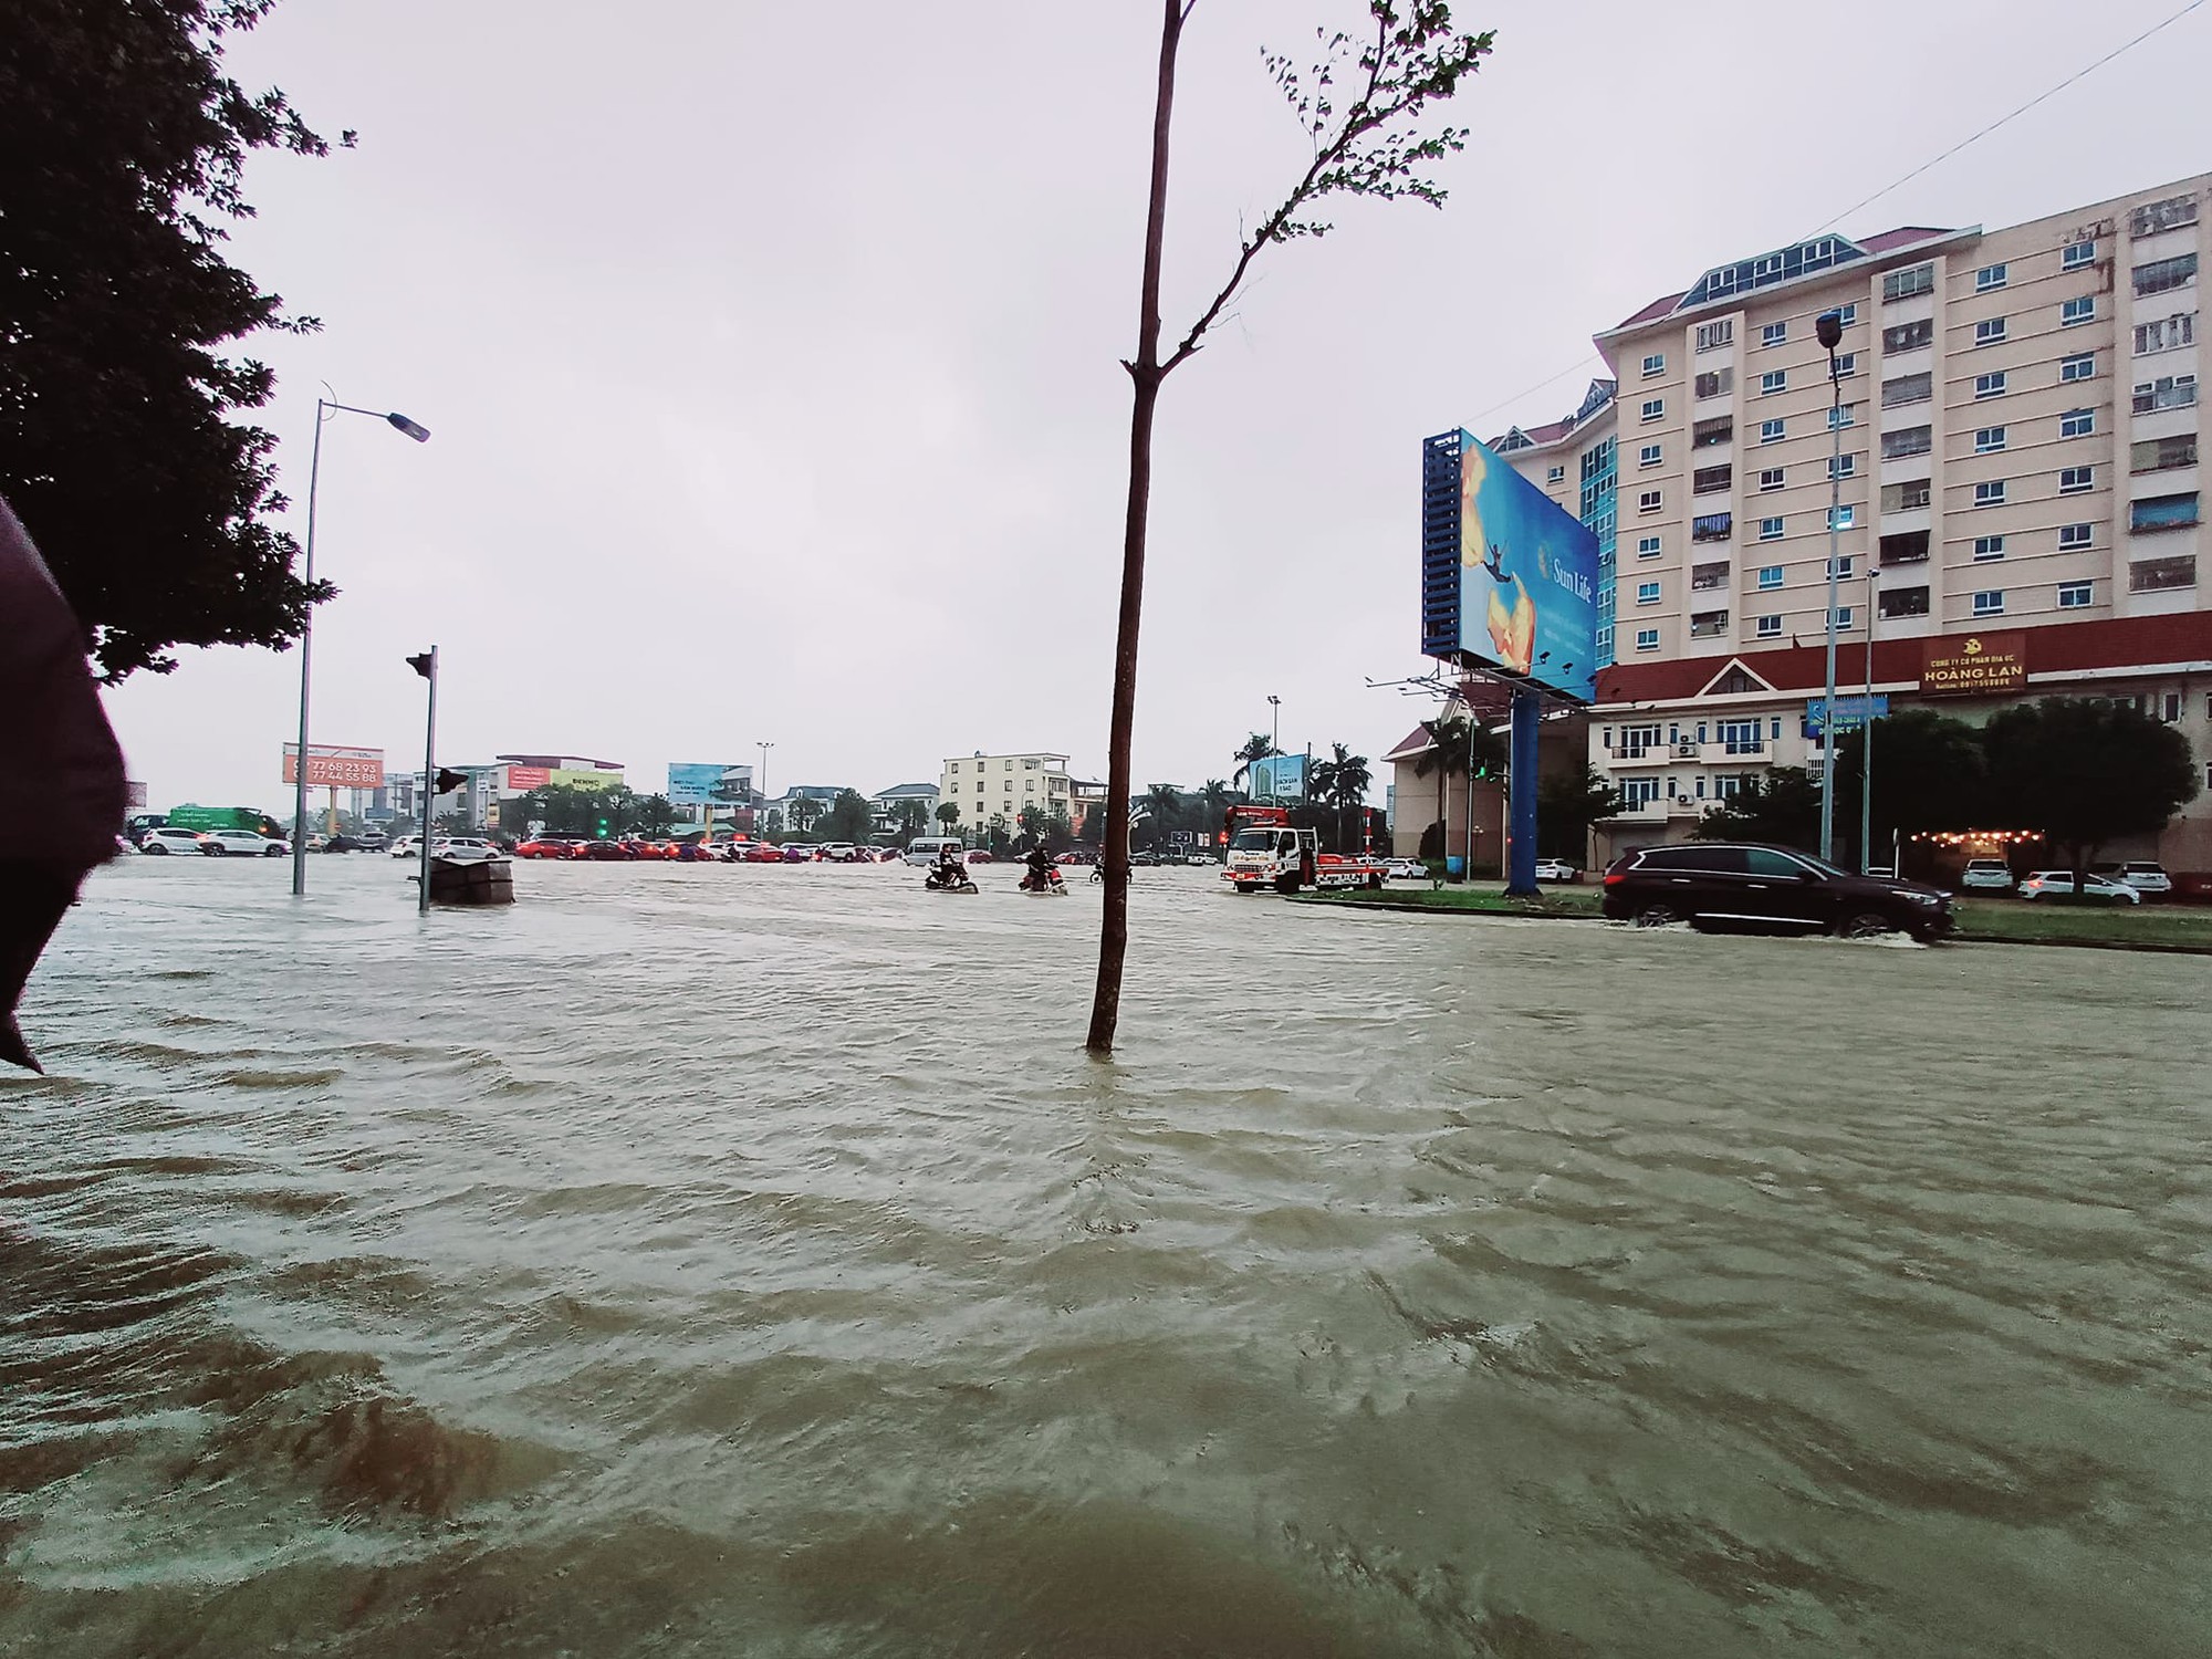
[[[1128,509],[1121,531],[1121,608],[1115,633],[1113,723],[1106,743],[1106,902],[1099,920],[1099,973],[1091,1002],[1093,1055],[1113,1053],[1121,1020],[1121,967],[1128,956],[1128,801],[1130,739],[1137,726],[1137,633],[1144,617],[1144,549],[1152,500],[1152,420],[1159,389],[1206,343],[1228,305],[1243,292],[1261,250],[1327,234],[1314,217],[1327,197],[1409,197],[1444,204],[1427,168],[1467,146],[1453,126],[1422,128],[1431,104],[1449,100],[1491,51],[1491,35],[1462,35],[1444,0],[1367,0],[1369,29],[1316,31],[1323,58],[1298,69],[1263,53],[1312,146],[1305,173],[1281,204],[1245,237],[1228,281],[1166,356],[1159,349],[1159,276],[1168,234],[1168,135],[1175,113],[1175,64],[1183,27],[1199,0],[1161,0],[1159,73],[1152,102],[1152,170],[1144,226],[1144,274],[1137,299],[1137,354],[1130,378]]]

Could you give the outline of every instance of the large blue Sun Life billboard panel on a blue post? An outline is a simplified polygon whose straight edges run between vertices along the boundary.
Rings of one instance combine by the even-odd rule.
[[[1597,695],[1597,538],[1471,431],[1422,445],[1420,633],[1588,703]]]

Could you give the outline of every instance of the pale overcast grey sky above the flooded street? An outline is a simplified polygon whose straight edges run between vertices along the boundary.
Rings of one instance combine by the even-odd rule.
[[[1363,688],[1422,668],[1422,436],[1555,418],[1595,330],[2179,7],[1455,4],[1498,53],[1451,106],[1449,206],[1267,252],[1168,383],[1139,785],[1228,774],[1270,692],[1285,748],[1383,754],[1422,712]],[[1301,166],[1261,44],[1363,11],[1199,0],[1170,332]],[[234,241],[325,321],[254,343],[285,487],[303,509],[319,380],[436,434],[325,434],[316,741],[414,763],[403,657],[438,644],[449,763],[564,750],[653,790],[770,739],[772,787],[978,748],[1104,776],[1157,29],[1152,0],[283,0],[237,73],[361,131],[259,161]],[[2203,170],[2208,62],[2199,9],[1836,228]],[[186,653],[113,692],[153,805],[281,812],[296,661]]]

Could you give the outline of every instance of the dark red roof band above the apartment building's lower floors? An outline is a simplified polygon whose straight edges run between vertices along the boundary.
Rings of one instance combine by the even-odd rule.
[[[1973,635],[2020,633],[2026,646],[2028,675],[2068,675],[2093,668],[2135,668],[2150,664],[2212,661],[2212,611],[2183,611],[2170,617],[2108,617],[2101,622],[2053,622],[2039,628],[1969,628],[1966,633],[1876,639],[1874,679],[1882,686],[1918,681],[1927,653],[1955,646]],[[1845,644],[1838,670],[1851,686],[1860,684],[1867,661],[1865,641]],[[1655,664],[1615,664],[1597,670],[1599,703],[1672,703],[1697,697],[1721,677],[1728,657],[1679,657]],[[1750,672],[1778,692],[1818,695],[1827,684],[1827,648],[1774,646],[1736,653]]]

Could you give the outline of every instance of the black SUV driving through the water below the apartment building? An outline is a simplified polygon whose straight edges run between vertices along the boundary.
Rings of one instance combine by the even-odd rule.
[[[1701,922],[1801,933],[1951,931],[1951,896],[1889,876],[1849,876],[1809,852],[1747,841],[1641,847],[1606,869],[1604,911],[1617,922]]]

